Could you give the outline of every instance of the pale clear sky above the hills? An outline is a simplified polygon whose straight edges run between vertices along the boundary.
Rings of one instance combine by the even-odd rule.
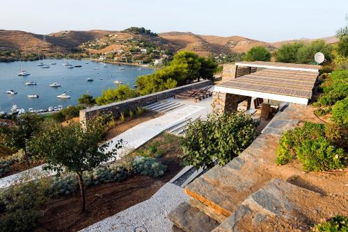
[[[0,29],[48,34],[143,26],[276,42],[335,35],[348,0],[1,0]]]

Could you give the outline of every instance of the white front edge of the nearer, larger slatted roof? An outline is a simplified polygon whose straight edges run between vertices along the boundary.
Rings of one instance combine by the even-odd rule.
[[[308,105],[308,101],[309,101],[309,99],[302,98],[302,97],[287,96],[287,95],[274,94],[269,92],[259,92],[254,90],[242,90],[242,89],[224,87],[219,85],[215,85],[214,91],[226,92],[229,94],[237,94],[237,95],[248,96],[248,97],[259,97],[259,98],[271,99],[276,101],[298,103],[303,105]]]

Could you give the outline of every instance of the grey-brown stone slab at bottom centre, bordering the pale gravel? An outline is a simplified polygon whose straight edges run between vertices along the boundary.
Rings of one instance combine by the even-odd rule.
[[[185,232],[210,232],[219,226],[218,222],[187,202],[177,206],[167,217],[178,229]]]

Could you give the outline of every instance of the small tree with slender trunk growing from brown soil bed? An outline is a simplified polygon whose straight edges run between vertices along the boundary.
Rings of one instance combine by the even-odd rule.
[[[44,158],[45,169],[77,174],[81,194],[81,210],[86,210],[86,194],[82,174],[116,156],[121,145],[118,141],[109,149],[111,142],[102,142],[106,131],[106,117],[96,117],[83,126],[70,122],[68,126],[56,124],[48,131],[35,135],[29,142],[36,158]],[[100,142],[102,142],[100,144]]]

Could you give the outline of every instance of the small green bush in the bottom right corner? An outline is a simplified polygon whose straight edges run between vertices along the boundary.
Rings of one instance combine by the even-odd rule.
[[[315,232],[347,232],[348,231],[348,217],[343,215],[336,215],[326,219],[326,222],[314,226]]]

